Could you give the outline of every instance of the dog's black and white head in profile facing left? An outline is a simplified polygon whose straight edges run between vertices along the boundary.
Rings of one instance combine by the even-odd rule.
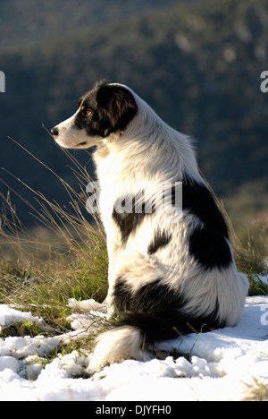
[[[101,82],[80,98],[71,118],[54,126],[51,133],[67,149],[84,149],[111,133],[123,132],[138,112],[131,91],[121,84]]]

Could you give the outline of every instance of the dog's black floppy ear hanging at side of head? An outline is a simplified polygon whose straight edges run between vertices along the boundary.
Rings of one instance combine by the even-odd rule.
[[[117,84],[101,84],[96,93],[99,123],[105,136],[124,131],[137,114],[138,107],[130,90]]]

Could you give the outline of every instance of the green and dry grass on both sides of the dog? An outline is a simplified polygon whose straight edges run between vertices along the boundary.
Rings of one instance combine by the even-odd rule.
[[[48,335],[71,330],[71,324],[66,320],[71,314],[68,306],[70,298],[94,298],[102,302],[107,293],[105,232],[97,217],[89,222],[83,216],[88,199],[83,191],[86,191],[91,179],[87,171],[70,158],[77,168],[74,175],[80,183],[80,193],[74,192],[59,178],[71,198],[71,211],[67,211],[35,192],[39,202],[35,214],[43,227],[35,231],[23,227],[10,197],[2,196],[0,304],[15,304],[21,311],[42,317],[49,326]],[[267,270],[264,258],[268,255],[267,229],[255,229],[252,240],[249,237],[247,243],[243,244],[235,234],[222,202],[219,205],[229,223],[238,268],[247,273],[250,279],[250,295],[268,295],[268,287],[256,280],[257,274]],[[260,242],[261,252],[257,245]],[[22,322],[2,329],[0,338],[38,334],[44,334],[44,330],[34,323]],[[90,350],[93,338],[94,335],[88,335],[82,341],[58,348],[58,352],[66,354],[81,347]],[[52,357],[56,355],[55,352]],[[267,389],[262,387],[252,398],[261,398],[261,394],[266,392]]]

